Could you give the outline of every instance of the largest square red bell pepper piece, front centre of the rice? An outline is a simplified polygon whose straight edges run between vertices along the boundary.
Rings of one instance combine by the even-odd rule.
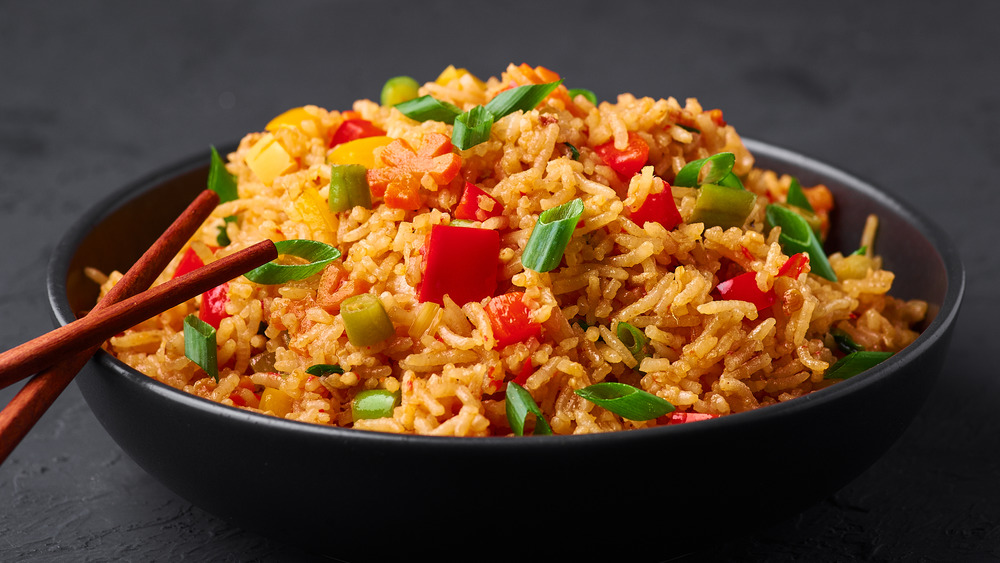
[[[421,302],[440,305],[448,295],[464,305],[496,291],[500,257],[500,234],[496,231],[434,225],[422,252],[424,271],[417,288]]]

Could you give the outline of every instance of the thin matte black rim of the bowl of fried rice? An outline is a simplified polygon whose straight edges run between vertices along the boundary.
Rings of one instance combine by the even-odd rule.
[[[517,448],[519,451],[531,448],[559,447],[594,447],[598,443],[613,440],[615,443],[627,446],[634,442],[646,442],[682,434],[698,434],[702,432],[721,432],[723,428],[745,426],[752,423],[762,423],[795,416],[805,409],[812,408],[839,398],[860,392],[863,389],[879,385],[883,380],[898,373],[905,366],[918,361],[918,358],[928,349],[935,346],[945,337],[949,327],[954,324],[965,292],[965,270],[960,255],[945,232],[928,220],[923,214],[914,210],[904,202],[896,199],[888,192],[876,188],[873,184],[825,162],[803,155],[801,153],[781,148],[769,143],[751,138],[742,138],[744,145],[754,155],[755,159],[764,158],[793,167],[808,169],[810,172],[842,184],[851,190],[878,201],[899,214],[907,223],[916,228],[932,244],[938,253],[945,269],[946,288],[935,318],[925,328],[923,333],[909,346],[893,355],[888,360],[868,370],[864,377],[853,377],[836,385],[814,391],[794,400],[769,405],[742,413],[699,421],[698,424],[677,424],[644,428],[633,431],[607,432],[581,435],[549,435],[523,436],[517,439],[504,439],[502,436],[464,437],[426,436],[415,434],[391,434],[373,431],[361,431],[352,428],[324,426],[315,423],[286,420],[265,414],[245,411],[216,403],[209,399],[175,389],[165,383],[146,376],[119,361],[111,354],[100,350],[91,359],[104,367],[110,368],[117,376],[124,378],[127,384],[138,392],[152,394],[158,400],[170,401],[178,409],[194,409],[203,414],[228,419],[233,424],[249,424],[255,428],[267,427],[275,432],[291,432],[313,439],[334,441],[364,441],[393,444],[393,447],[412,448],[471,448],[476,451],[481,448],[504,450]],[[235,150],[236,143],[219,145],[224,150]],[[127,183],[115,189],[110,195],[100,200],[82,217],[80,217],[63,235],[50,257],[46,289],[50,314],[59,325],[64,325],[75,319],[67,298],[66,279],[73,255],[81,241],[89,234],[94,225],[112,214],[126,203],[145,194],[163,181],[192,172],[206,166],[207,159],[203,153],[181,159],[166,165],[146,176]]]

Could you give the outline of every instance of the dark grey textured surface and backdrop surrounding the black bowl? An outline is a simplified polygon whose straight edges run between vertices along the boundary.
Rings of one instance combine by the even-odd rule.
[[[905,199],[967,269],[932,401],[885,456],[788,521],[684,559],[1000,557],[1000,380],[986,330],[1000,277],[989,244],[1000,236],[1000,4],[827,4],[0,0],[0,240],[15,241],[2,254],[0,346],[52,327],[48,257],[124,183],[289,107],[375,98],[388,76],[542,64],[604,99],[723,108],[741,134]],[[75,386],[0,466],[0,507],[4,561],[311,559],[175,496]]]

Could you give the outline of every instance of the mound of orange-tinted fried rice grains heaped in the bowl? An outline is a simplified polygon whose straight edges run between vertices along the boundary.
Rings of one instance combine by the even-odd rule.
[[[449,68],[420,94],[468,110],[512,84],[547,81],[540,79],[546,74],[554,73],[511,65],[499,78],[480,81]],[[367,120],[412,147],[432,134],[452,134],[451,125],[420,123],[369,100],[355,102],[351,112],[306,106],[292,125],[250,133],[228,155],[239,199],[220,204],[190,242],[204,261],[265,238],[312,239],[343,256],[301,281],[258,285],[240,277],[229,283],[229,316],[217,332],[218,382],[184,353],[183,320],[198,312],[201,298],[112,338],[107,348],[163,383],[255,412],[384,432],[503,436],[511,434],[504,390],[514,378],[556,434],[626,430],[671,419],[627,420],[573,390],[618,381],[666,399],[677,412],[728,415],[834,384],[824,373],[843,354],[832,329],[867,350],[891,352],[918,335],[914,327],[926,304],[888,295],[893,274],[872,251],[874,218],[858,233],[867,253],[830,257],[838,274],[849,274],[838,276],[841,281],[808,271],[778,275],[788,256],[778,243],[780,229],[767,232],[764,212],[768,203],[784,201],[791,178],[755,168],[721,112],[703,110],[697,100],[622,94],[614,103],[594,105],[581,95],[571,98],[561,86],[536,109],[499,119],[487,142],[453,148],[461,157],[453,180],[439,185],[430,175],[419,176],[419,209],[395,209],[376,197],[373,209],[317,212],[306,202],[318,194],[325,205],[329,140],[345,119]],[[624,149],[629,133],[648,144],[649,158],[638,174],[623,177],[594,147],[612,141]],[[248,166],[262,139],[289,156],[287,168],[273,178],[262,179]],[[384,150],[373,151],[375,168],[386,165],[379,158]],[[680,225],[667,230],[630,219],[657,179],[672,183],[686,163],[720,152],[736,156],[733,172],[757,194],[743,228],[688,222],[697,190],[676,186],[670,189],[685,219]],[[432,226],[454,220],[466,181],[502,205],[501,215],[472,227],[499,232],[495,295],[523,291],[532,319],[541,324],[538,338],[498,347],[486,313],[489,298],[445,298],[441,306],[418,301],[421,248]],[[833,208],[824,186],[804,191],[821,217]],[[561,265],[545,273],[525,269],[520,256],[539,214],[574,198],[585,210]],[[230,216],[237,219],[224,221]],[[214,249],[220,227],[230,243]],[[770,308],[758,313],[748,302],[720,299],[720,281],[744,272],[755,272],[758,288],[774,292]],[[119,278],[112,273],[103,279],[103,290]],[[339,307],[345,297],[366,292],[381,300],[395,335],[356,347],[345,335]],[[618,322],[648,338],[641,361],[618,339]],[[337,364],[344,373],[307,374],[315,364]],[[287,396],[280,408],[260,409],[267,389]],[[401,393],[391,417],[353,420],[351,401],[368,389]]]

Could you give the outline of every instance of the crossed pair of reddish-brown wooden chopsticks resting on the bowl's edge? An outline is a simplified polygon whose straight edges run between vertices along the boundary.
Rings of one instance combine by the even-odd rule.
[[[202,192],[89,314],[0,354],[0,388],[36,374],[0,411],[0,464],[102,342],[278,257],[265,240],[148,289],[218,203]]]

